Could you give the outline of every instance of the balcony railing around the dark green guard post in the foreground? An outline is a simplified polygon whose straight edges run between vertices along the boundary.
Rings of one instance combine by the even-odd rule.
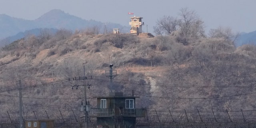
[[[109,108],[91,108],[88,112],[91,117],[110,117],[110,116],[124,116],[124,117],[145,117],[145,108],[123,108],[123,109],[109,109]]]

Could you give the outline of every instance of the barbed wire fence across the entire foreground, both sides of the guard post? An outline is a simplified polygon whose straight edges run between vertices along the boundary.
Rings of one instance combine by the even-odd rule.
[[[38,112],[32,111],[32,114],[23,117],[23,121],[50,119],[54,120],[54,128],[84,127],[84,115],[78,110]],[[2,115],[0,128],[17,128],[19,124],[19,117],[17,115],[15,112],[6,112],[6,114]],[[137,128],[253,128],[256,126],[255,117],[256,110],[200,111],[147,109],[144,118],[136,119],[136,126]],[[89,126],[90,128],[96,128],[96,118],[90,118]]]

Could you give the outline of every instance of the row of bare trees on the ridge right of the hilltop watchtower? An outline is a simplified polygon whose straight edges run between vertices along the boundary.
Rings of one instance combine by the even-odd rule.
[[[196,11],[188,8],[180,9],[178,17],[163,16],[156,21],[154,33],[157,35],[172,34],[177,36],[177,41],[183,44],[188,44],[187,40],[200,37],[206,37],[204,31],[204,22],[198,16]],[[210,38],[224,38],[232,40],[232,43],[238,38],[239,33],[232,32],[229,27],[219,26],[216,29],[211,29],[208,36]]]

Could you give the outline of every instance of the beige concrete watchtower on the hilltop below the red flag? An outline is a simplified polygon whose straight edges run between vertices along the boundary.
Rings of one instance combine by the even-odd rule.
[[[143,17],[130,17],[131,21],[129,24],[131,25],[130,34],[139,34],[142,33],[142,25],[144,25],[144,22],[142,22]]]

